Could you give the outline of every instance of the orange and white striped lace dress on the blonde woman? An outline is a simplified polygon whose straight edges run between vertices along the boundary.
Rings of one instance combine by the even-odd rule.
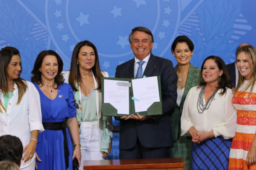
[[[229,170],[255,169],[256,164],[248,166],[246,164],[247,153],[251,148],[256,132],[256,87],[254,87],[250,97],[250,88],[245,92],[244,87],[248,81],[234,94],[233,105],[237,109],[237,129],[232,140],[229,155]]]

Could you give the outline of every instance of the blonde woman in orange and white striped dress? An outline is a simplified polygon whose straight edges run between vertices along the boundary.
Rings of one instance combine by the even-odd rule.
[[[238,85],[233,97],[237,129],[231,144],[229,169],[256,169],[256,49],[237,50]]]

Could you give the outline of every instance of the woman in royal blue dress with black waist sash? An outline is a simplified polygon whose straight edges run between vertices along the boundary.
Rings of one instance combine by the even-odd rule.
[[[81,161],[74,94],[71,86],[63,83],[62,68],[60,56],[53,50],[47,50],[38,54],[31,71],[31,81],[40,95],[45,129],[38,136],[36,152],[42,160],[37,160],[38,169],[73,169],[74,157],[79,165]]]

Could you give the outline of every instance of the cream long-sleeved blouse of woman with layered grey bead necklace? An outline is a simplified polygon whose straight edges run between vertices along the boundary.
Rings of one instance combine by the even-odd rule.
[[[203,113],[198,113],[197,100],[201,88],[192,87],[186,97],[181,115],[181,136],[194,126],[199,132],[213,130],[215,137],[221,135],[224,139],[234,137],[236,132],[237,113],[232,105],[232,90],[226,88],[226,94],[220,96],[219,89],[210,107]],[[203,97],[205,104],[205,99]]]

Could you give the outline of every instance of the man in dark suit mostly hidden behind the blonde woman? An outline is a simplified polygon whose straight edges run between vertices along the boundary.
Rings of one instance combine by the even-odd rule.
[[[248,46],[248,45],[249,44],[247,44],[247,43],[240,44],[237,47],[237,50],[239,48],[243,47],[243,46]],[[230,75],[230,78],[231,78],[232,90],[234,91],[234,88],[236,88],[236,86],[237,86],[237,80],[238,80],[238,75],[237,75],[238,74],[238,70],[237,70],[236,62],[227,64],[227,68],[228,68],[229,75]]]

